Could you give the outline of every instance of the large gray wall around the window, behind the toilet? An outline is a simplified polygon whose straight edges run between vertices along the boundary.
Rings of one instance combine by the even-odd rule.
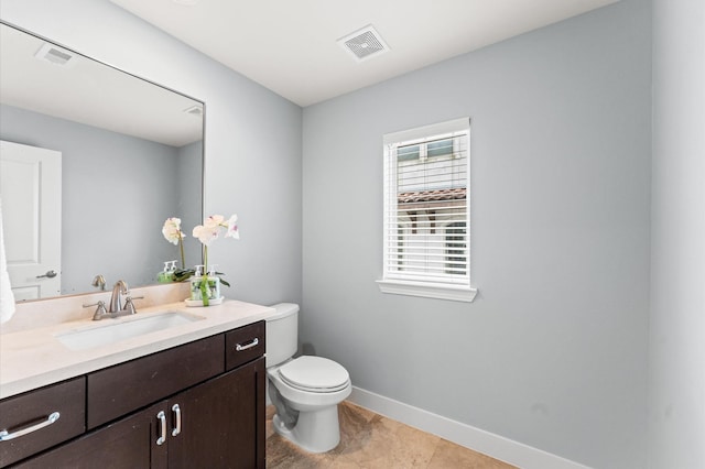
[[[304,109],[300,336],[355,385],[600,468],[646,466],[651,6]],[[470,116],[475,303],[383,295],[383,133]]]

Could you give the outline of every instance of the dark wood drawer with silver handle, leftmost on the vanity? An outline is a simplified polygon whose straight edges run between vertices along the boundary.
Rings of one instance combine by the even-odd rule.
[[[86,380],[84,377],[8,397],[0,402],[0,432],[37,428],[0,441],[0,467],[65,441],[85,429]],[[50,422],[50,415],[58,419]],[[44,424],[44,425],[42,425]]]

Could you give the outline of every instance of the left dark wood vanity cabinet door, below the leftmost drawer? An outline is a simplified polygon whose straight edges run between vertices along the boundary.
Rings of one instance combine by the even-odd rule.
[[[161,426],[155,418],[165,405],[154,405],[55,449],[28,459],[22,469],[164,468],[166,445],[156,446]]]

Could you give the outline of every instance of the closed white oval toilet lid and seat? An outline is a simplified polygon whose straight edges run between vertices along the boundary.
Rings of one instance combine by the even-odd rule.
[[[350,375],[339,363],[323,357],[303,356],[279,369],[289,385],[306,391],[332,392],[348,385]]]

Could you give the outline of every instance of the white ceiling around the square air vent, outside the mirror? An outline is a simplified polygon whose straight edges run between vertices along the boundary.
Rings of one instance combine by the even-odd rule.
[[[111,0],[305,107],[617,0]],[[337,40],[372,24],[390,52]]]

